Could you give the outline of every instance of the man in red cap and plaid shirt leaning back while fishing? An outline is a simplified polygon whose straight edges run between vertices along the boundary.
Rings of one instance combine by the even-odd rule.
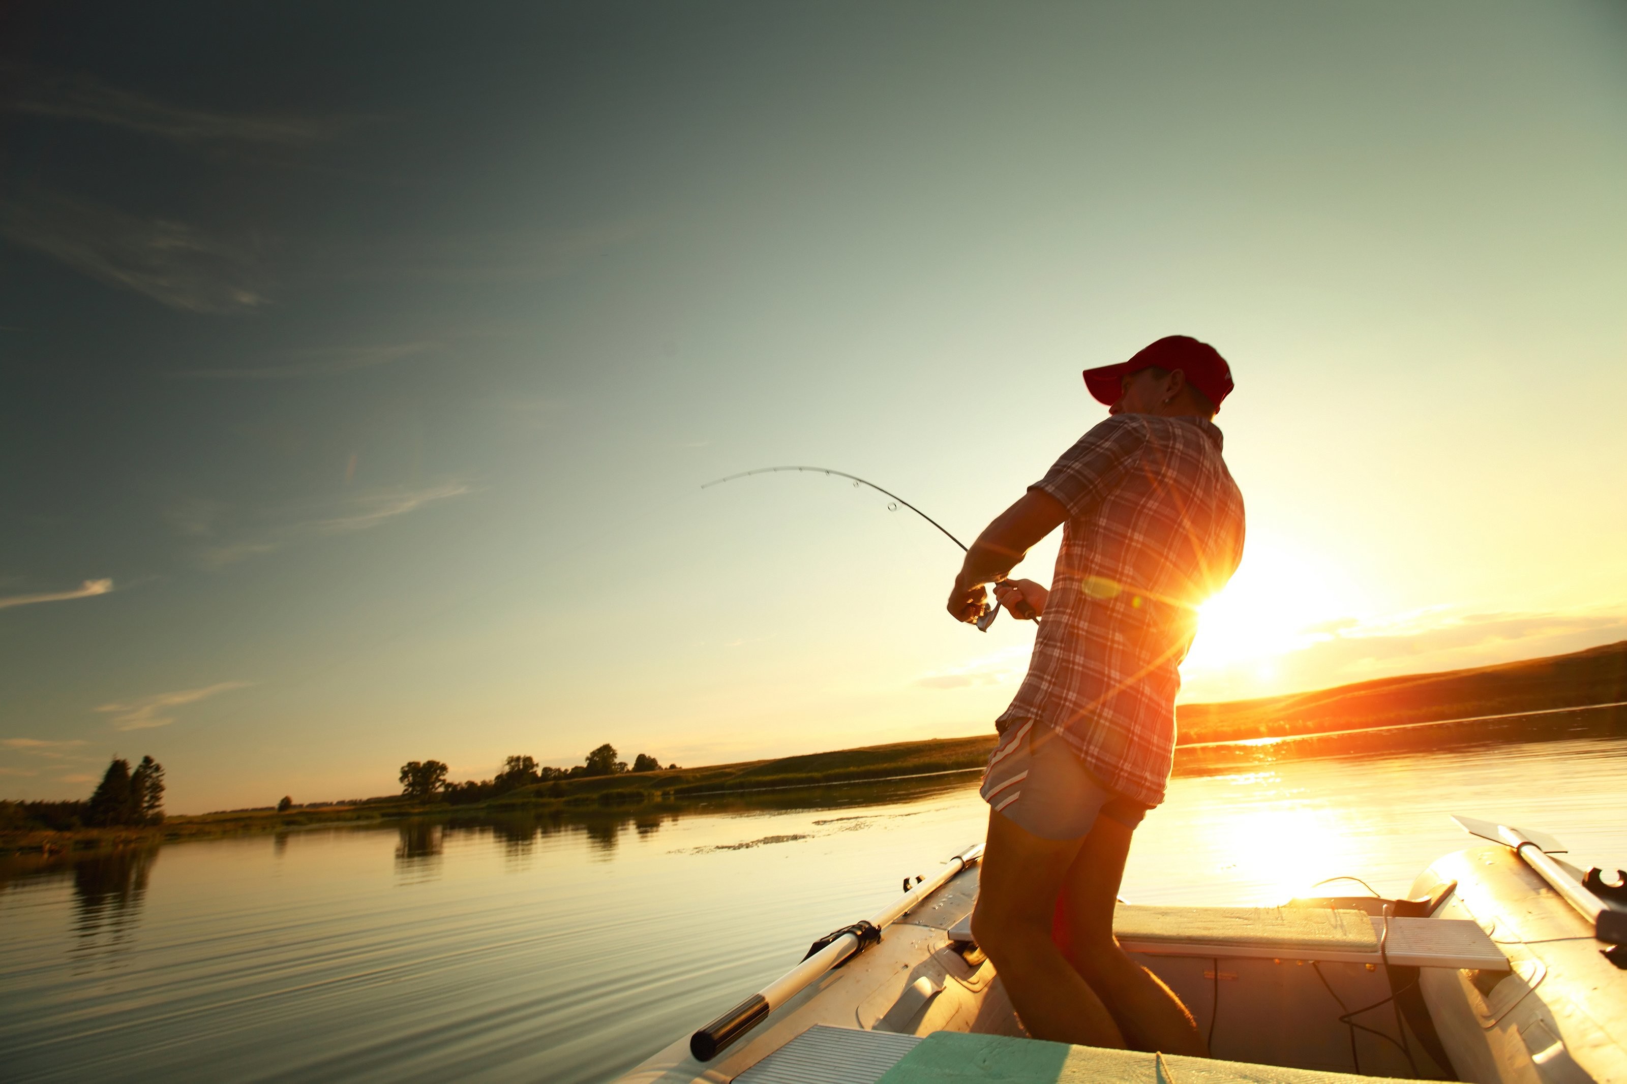
[[[1113,905],[1131,834],[1163,800],[1196,608],[1243,554],[1243,497],[1212,421],[1232,372],[1171,335],[1088,369],[1085,387],[1110,418],[989,523],[949,598],[976,621],[994,583],[999,605],[1040,614],[983,778],[971,930],[1035,1038],[1207,1055],[1180,998],[1118,947]],[[1058,523],[1051,588],[1005,580]]]

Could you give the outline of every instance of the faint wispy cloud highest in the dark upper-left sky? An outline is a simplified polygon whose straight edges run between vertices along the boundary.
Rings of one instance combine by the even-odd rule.
[[[20,76],[21,86],[5,102],[10,112],[103,124],[174,143],[303,146],[332,138],[347,124],[340,119],[229,114],[176,106],[109,86],[85,73],[33,68]]]

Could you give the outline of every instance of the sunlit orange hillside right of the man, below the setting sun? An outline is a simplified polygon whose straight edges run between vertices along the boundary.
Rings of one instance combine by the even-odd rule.
[[[1380,678],[1258,700],[1183,704],[1180,743],[1280,738],[1627,700],[1627,640],[1520,663]]]

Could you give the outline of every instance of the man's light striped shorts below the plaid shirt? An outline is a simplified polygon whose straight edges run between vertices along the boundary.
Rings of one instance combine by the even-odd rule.
[[[994,813],[1040,839],[1088,835],[1098,814],[1129,829],[1147,816],[1147,806],[1103,787],[1054,730],[1033,720],[1001,735],[979,793]]]

